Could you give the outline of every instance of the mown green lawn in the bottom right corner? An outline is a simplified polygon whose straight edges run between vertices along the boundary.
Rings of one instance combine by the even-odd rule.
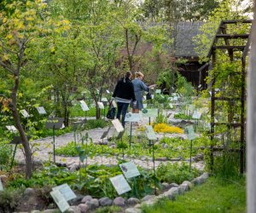
[[[160,200],[154,207],[143,207],[144,213],[215,213],[215,212],[246,212],[245,178],[239,181],[219,181],[209,178],[201,186],[178,196],[175,201]]]

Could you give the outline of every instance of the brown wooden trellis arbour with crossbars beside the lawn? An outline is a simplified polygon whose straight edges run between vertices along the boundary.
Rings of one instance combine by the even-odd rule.
[[[249,34],[227,34],[228,25],[236,24],[251,24],[252,20],[223,20],[218,26],[218,31],[214,37],[212,47],[209,51],[208,58],[212,56],[212,68],[217,62],[217,49],[226,49],[229,55],[230,61],[234,60],[234,52],[241,51],[241,95],[235,97],[217,97],[215,94],[214,84],[216,81],[216,75],[212,73],[212,96],[211,96],[211,141],[214,139],[215,127],[218,125],[226,125],[228,128],[240,128],[240,148],[237,150],[240,153],[240,173],[242,174],[245,170],[245,101],[246,101],[246,56],[250,46]],[[218,39],[224,39],[224,45],[218,46]],[[244,39],[245,44],[241,46],[230,45],[231,39]],[[216,101],[240,101],[241,104],[241,115],[240,122],[235,123],[234,121],[228,121],[227,123],[215,122],[215,112],[216,112]],[[211,166],[213,166],[213,152],[214,147],[211,146]]]

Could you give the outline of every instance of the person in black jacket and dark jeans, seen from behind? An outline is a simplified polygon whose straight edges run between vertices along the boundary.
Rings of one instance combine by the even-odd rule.
[[[115,98],[117,102],[118,112],[116,118],[120,120],[122,115],[121,123],[125,128],[125,115],[129,104],[136,101],[133,84],[131,83],[132,73],[130,71],[125,73],[124,78],[119,79],[113,91],[112,100]]]

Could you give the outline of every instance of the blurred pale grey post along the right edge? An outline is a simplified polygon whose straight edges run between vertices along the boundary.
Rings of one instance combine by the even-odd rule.
[[[256,1],[254,0],[254,5]],[[247,78],[247,212],[256,212],[256,6]]]

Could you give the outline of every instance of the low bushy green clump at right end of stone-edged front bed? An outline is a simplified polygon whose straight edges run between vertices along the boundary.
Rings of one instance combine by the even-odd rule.
[[[189,172],[189,164],[182,163],[181,165],[174,163],[160,164],[156,170],[156,175],[160,181],[176,182],[181,184],[183,181],[191,181],[196,176],[200,175],[200,172],[195,168]]]

